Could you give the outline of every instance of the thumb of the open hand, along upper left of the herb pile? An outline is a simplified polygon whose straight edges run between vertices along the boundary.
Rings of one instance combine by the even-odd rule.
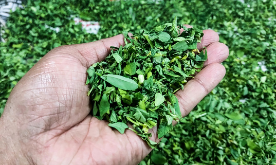
[[[86,60],[86,67],[90,67],[96,62],[105,59],[111,52],[111,46],[120,47],[125,45],[123,34],[115,35],[111,38],[102,39],[95,42],[71,45],[75,47],[81,56]]]

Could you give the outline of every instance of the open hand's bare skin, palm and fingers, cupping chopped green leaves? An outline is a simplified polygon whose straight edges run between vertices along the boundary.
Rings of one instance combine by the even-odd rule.
[[[207,47],[205,68],[176,93],[183,117],[225,75],[219,63],[229,50],[218,40],[216,32],[204,30],[198,49]],[[36,63],[12,90],[0,119],[0,164],[138,164],[148,155],[148,144],[134,132],[120,134],[88,115],[86,70],[120,45],[122,34],[61,46]],[[151,131],[158,142],[156,128]]]

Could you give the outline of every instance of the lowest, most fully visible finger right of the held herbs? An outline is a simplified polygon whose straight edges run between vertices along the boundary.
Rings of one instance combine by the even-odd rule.
[[[182,116],[188,115],[225,76],[225,68],[213,63],[201,70],[194,79],[190,80],[183,90],[176,93]]]

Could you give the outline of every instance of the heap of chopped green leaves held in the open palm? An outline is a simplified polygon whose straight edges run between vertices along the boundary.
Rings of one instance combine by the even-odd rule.
[[[207,51],[196,47],[203,31],[177,26],[176,20],[150,32],[141,30],[132,38],[124,32],[125,46],[112,46],[104,61],[87,70],[93,116],[107,120],[121,134],[132,130],[151,148],[157,143],[149,139],[149,129],[158,127],[158,139],[173,129],[173,120],[181,119],[174,93],[207,60]],[[181,34],[180,28],[184,29]]]

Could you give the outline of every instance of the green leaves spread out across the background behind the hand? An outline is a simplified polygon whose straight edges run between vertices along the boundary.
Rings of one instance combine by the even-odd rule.
[[[178,16],[219,33],[230,50],[227,74],[140,164],[276,164],[275,10],[272,0],[28,1],[11,13],[0,43],[0,114],[14,85],[52,48],[150,30]],[[99,33],[82,31],[70,15],[98,21]]]

